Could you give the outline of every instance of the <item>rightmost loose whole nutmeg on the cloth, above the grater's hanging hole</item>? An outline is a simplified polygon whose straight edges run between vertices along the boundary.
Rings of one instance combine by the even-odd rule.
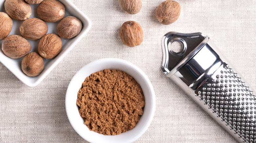
[[[156,9],[157,19],[164,25],[174,23],[179,18],[180,13],[180,4],[173,0],[162,2]]]

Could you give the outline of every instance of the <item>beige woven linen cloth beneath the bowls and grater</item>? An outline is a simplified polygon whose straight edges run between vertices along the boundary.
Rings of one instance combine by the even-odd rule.
[[[0,142],[87,142],[67,118],[66,89],[80,68],[108,57],[137,65],[155,90],[154,119],[136,143],[236,142],[162,73],[161,39],[170,31],[208,35],[256,89],[255,0],[177,0],[181,15],[170,25],[160,24],[155,16],[164,0],[142,0],[136,15],[122,11],[117,0],[71,1],[90,18],[92,28],[38,86],[25,86],[0,63]],[[119,38],[121,25],[129,20],[144,31],[142,44],[134,48]]]

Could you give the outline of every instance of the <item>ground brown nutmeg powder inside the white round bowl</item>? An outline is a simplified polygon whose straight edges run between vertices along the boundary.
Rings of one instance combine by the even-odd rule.
[[[145,106],[139,84],[120,70],[106,69],[86,77],[77,97],[84,124],[103,135],[118,135],[133,129]]]

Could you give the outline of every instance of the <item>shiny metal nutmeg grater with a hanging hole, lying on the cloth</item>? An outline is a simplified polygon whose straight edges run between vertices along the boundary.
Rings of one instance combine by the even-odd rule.
[[[179,41],[180,52],[171,44]],[[238,142],[256,143],[256,97],[202,33],[162,38],[162,71]]]

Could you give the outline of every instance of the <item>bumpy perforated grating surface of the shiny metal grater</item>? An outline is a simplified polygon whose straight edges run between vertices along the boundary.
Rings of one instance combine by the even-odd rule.
[[[256,97],[229,65],[215,71],[195,96],[243,142],[256,143]]]

